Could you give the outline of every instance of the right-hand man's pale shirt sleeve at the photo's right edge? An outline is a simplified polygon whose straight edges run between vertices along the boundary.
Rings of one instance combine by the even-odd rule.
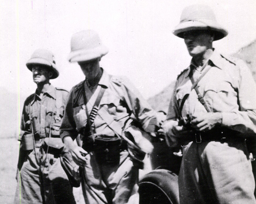
[[[222,112],[222,125],[248,136],[256,136],[256,83],[244,62],[239,61],[239,110]]]

